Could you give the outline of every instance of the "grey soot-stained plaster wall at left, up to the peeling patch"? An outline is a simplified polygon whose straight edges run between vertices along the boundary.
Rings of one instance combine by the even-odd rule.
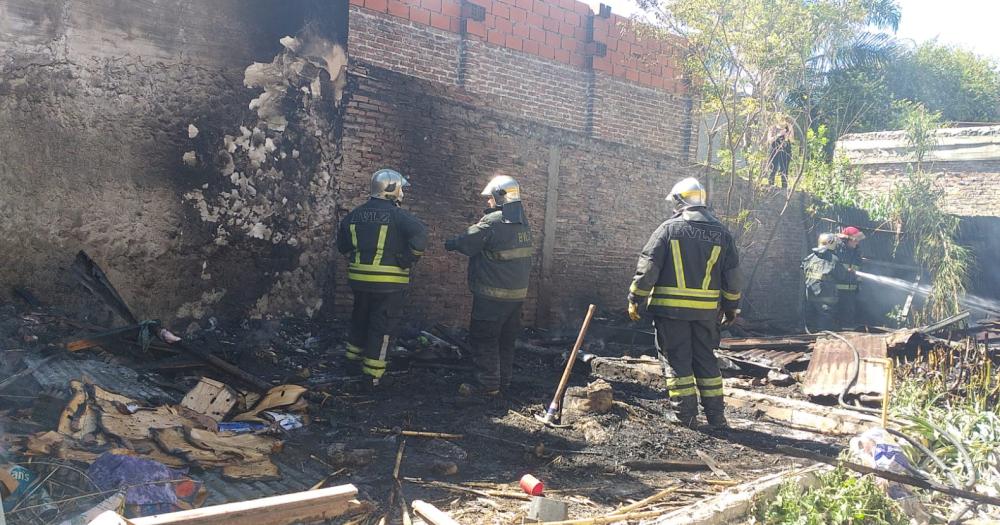
[[[346,2],[0,0],[0,284],[53,303],[80,298],[77,250],[105,266],[137,312],[242,313],[297,264],[257,239],[220,246],[183,195],[212,167],[199,141],[248,121],[243,70],[311,21],[346,36]]]

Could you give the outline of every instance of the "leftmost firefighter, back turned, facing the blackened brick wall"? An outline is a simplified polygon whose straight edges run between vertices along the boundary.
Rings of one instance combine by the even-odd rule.
[[[385,374],[410,269],[427,246],[427,228],[399,207],[409,185],[397,171],[376,171],[368,202],[351,210],[337,232],[337,250],[348,259],[347,281],[354,292],[347,368],[363,375],[369,387]]]

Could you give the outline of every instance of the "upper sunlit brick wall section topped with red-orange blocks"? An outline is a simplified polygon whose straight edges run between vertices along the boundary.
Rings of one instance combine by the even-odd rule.
[[[694,155],[676,39],[640,36],[627,19],[576,0],[465,5],[463,15],[458,0],[352,0],[349,52],[518,118]],[[483,21],[470,18],[471,5],[484,8]]]

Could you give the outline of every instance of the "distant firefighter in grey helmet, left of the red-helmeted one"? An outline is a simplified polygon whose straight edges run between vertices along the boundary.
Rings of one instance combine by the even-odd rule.
[[[802,272],[806,285],[806,330],[833,330],[836,326],[838,283],[847,282],[847,270],[840,264],[836,234],[822,233],[805,259]]]

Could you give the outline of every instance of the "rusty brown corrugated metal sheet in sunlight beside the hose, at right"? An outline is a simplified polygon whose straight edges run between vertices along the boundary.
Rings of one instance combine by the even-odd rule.
[[[858,380],[851,387],[851,394],[880,394],[885,388],[883,365],[865,361],[865,358],[885,358],[890,346],[908,340],[909,334],[840,334],[857,349],[861,356]],[[835,337],[821,337],[813,347],[812,359],[802,381],[802,392],[809,396],[840,395],[854,371],[854,352],[844,341]]]

